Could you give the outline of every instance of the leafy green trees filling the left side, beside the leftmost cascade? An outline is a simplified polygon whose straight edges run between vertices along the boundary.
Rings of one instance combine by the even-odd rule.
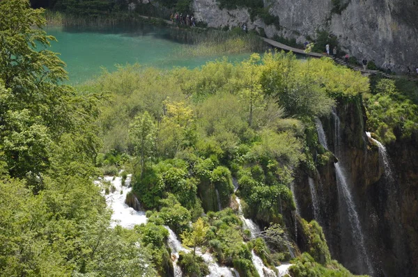
[[[0,275],[154,276],[91,180],[102,96],[63,85],[64,63],[35,48],[54,39],[42,10],[13,0],[0,13]]]

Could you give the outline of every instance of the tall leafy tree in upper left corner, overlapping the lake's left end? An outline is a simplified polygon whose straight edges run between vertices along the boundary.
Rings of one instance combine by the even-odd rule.
[[[52,141],[77,128],[65,63],[45,49],[43,10],[27,0],[0,2],[0,137],[10,175],[40,175]]]

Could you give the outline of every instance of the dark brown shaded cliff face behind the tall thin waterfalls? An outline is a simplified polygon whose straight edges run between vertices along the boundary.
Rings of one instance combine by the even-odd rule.
[[[339,132],[336,117],[323,118],[330,150],[343,163],[353,196],[364,244],[373,264],[373,276],[416,276],[418,272],[418,151],[417,139],[398,139],[389,145],[389,176],[382,149],[364,133],[366,118],[361,100],[339,105]],[[336,137],[339,136],[339,142]],[[336,145],[339,143],[339,149]],[[369,273],[357,261],[358,253],[350,232],[349,214],[339,198],[334,160],[318,166],[318,171],[300,171],[295,178],[295,196],[301,216],[314,219],[308,175],[314,180],[320,198],[320,224],[332,257],[356,274]],[[363,259],[364,257],[362,257]]]

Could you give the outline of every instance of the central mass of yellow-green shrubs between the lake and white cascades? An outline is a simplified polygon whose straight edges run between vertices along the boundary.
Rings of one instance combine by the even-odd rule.
[[[268,244],[251,239],[238,216],[233,182],[245,216],[286,230],[295,209],[293,170],[314,166],[314,118],[330,113],[336,99],[349,102],[369,86],[358,72],[327,59],[303,63],[291,54],[267,53],[195,70],[132,65],[79,90],[111,93],[99,120],[107,153],[102,157],[106,171],[134,172],[133,191],[149,210],[148,224],[168,225],[186,246],[209,250],[242,276],[256,276],[251,251],[270,266],[288,260],[286,232],[267,232],[273,237]],[[132,159],[123,162],[122,153]],[[311,255],[330,264],[322,230],[309,233],[318,238]],[[193,253],[180,253],[178,262],[190,276],[206,271]],[[162,260],[153,261],[162,267]]]

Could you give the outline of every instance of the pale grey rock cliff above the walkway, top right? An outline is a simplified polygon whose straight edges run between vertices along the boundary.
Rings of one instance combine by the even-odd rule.
[[[341,14],[334,3],[339,3]],[[193,1],[196,19],[208,26],[247,22],[249,29],[264,29],[270,38],[281,35],[299,42],[326,30],[336,35],[344,51],[359,59],[366,57],[397,71],[418,66],[417,0],[266,0],[265,6],[279,17],[280,29],[260,19],[250,22],[245,8],[221,10],[216,0]]]

